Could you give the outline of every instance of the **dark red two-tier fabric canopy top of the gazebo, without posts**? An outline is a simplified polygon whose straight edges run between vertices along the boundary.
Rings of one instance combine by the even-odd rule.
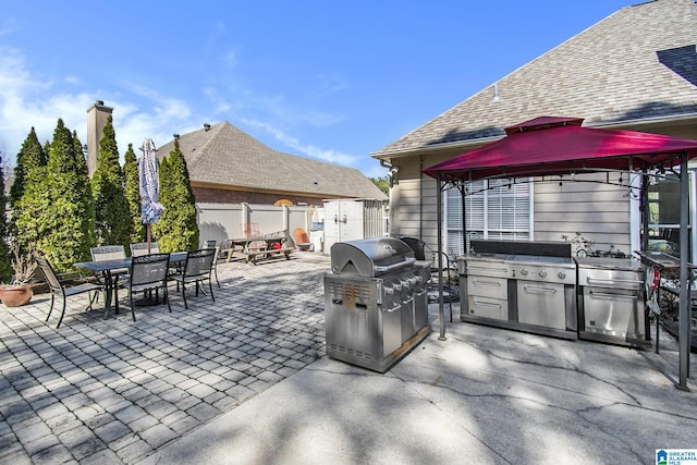
[[[644,171],[680,163],[687,150],[697,157],[697,140],[635,131],[582,127],[580,118],[539,117],[506,127],[506,137],[428,167],[441,181],[568,174],[620,170]]]

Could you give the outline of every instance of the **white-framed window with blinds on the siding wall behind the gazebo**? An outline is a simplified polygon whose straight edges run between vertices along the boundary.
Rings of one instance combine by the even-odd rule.
[[[533,238],[533,183],[509,180],[466,183],[465,221],[469,238]],[[445,191],[445,244],[449,255],[464,253],[462,195]]]

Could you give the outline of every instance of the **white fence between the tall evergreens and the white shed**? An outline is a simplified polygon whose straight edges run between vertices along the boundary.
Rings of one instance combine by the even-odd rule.
[[[319,221],[322,209],[308,206],[276,207],[256,204],[196,204],[200,242],[250,237],[302,228],[309,234],[313,221]]]

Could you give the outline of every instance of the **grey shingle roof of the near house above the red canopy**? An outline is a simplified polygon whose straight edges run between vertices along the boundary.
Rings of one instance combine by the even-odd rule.
[[[626,7],[371,156],[478,138],[540,115],[587,125],[697,117],[697,4],[655,0]],[[476,63],[474,63],[476,64]]]

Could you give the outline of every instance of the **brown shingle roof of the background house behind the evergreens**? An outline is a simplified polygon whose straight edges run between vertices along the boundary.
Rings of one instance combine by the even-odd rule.
[[[360,171],[276,151],[240,129],[222,122],[179,138],[192,183],[316,197],[387,199]],[[174,148],[170,140],[158,158]]]

